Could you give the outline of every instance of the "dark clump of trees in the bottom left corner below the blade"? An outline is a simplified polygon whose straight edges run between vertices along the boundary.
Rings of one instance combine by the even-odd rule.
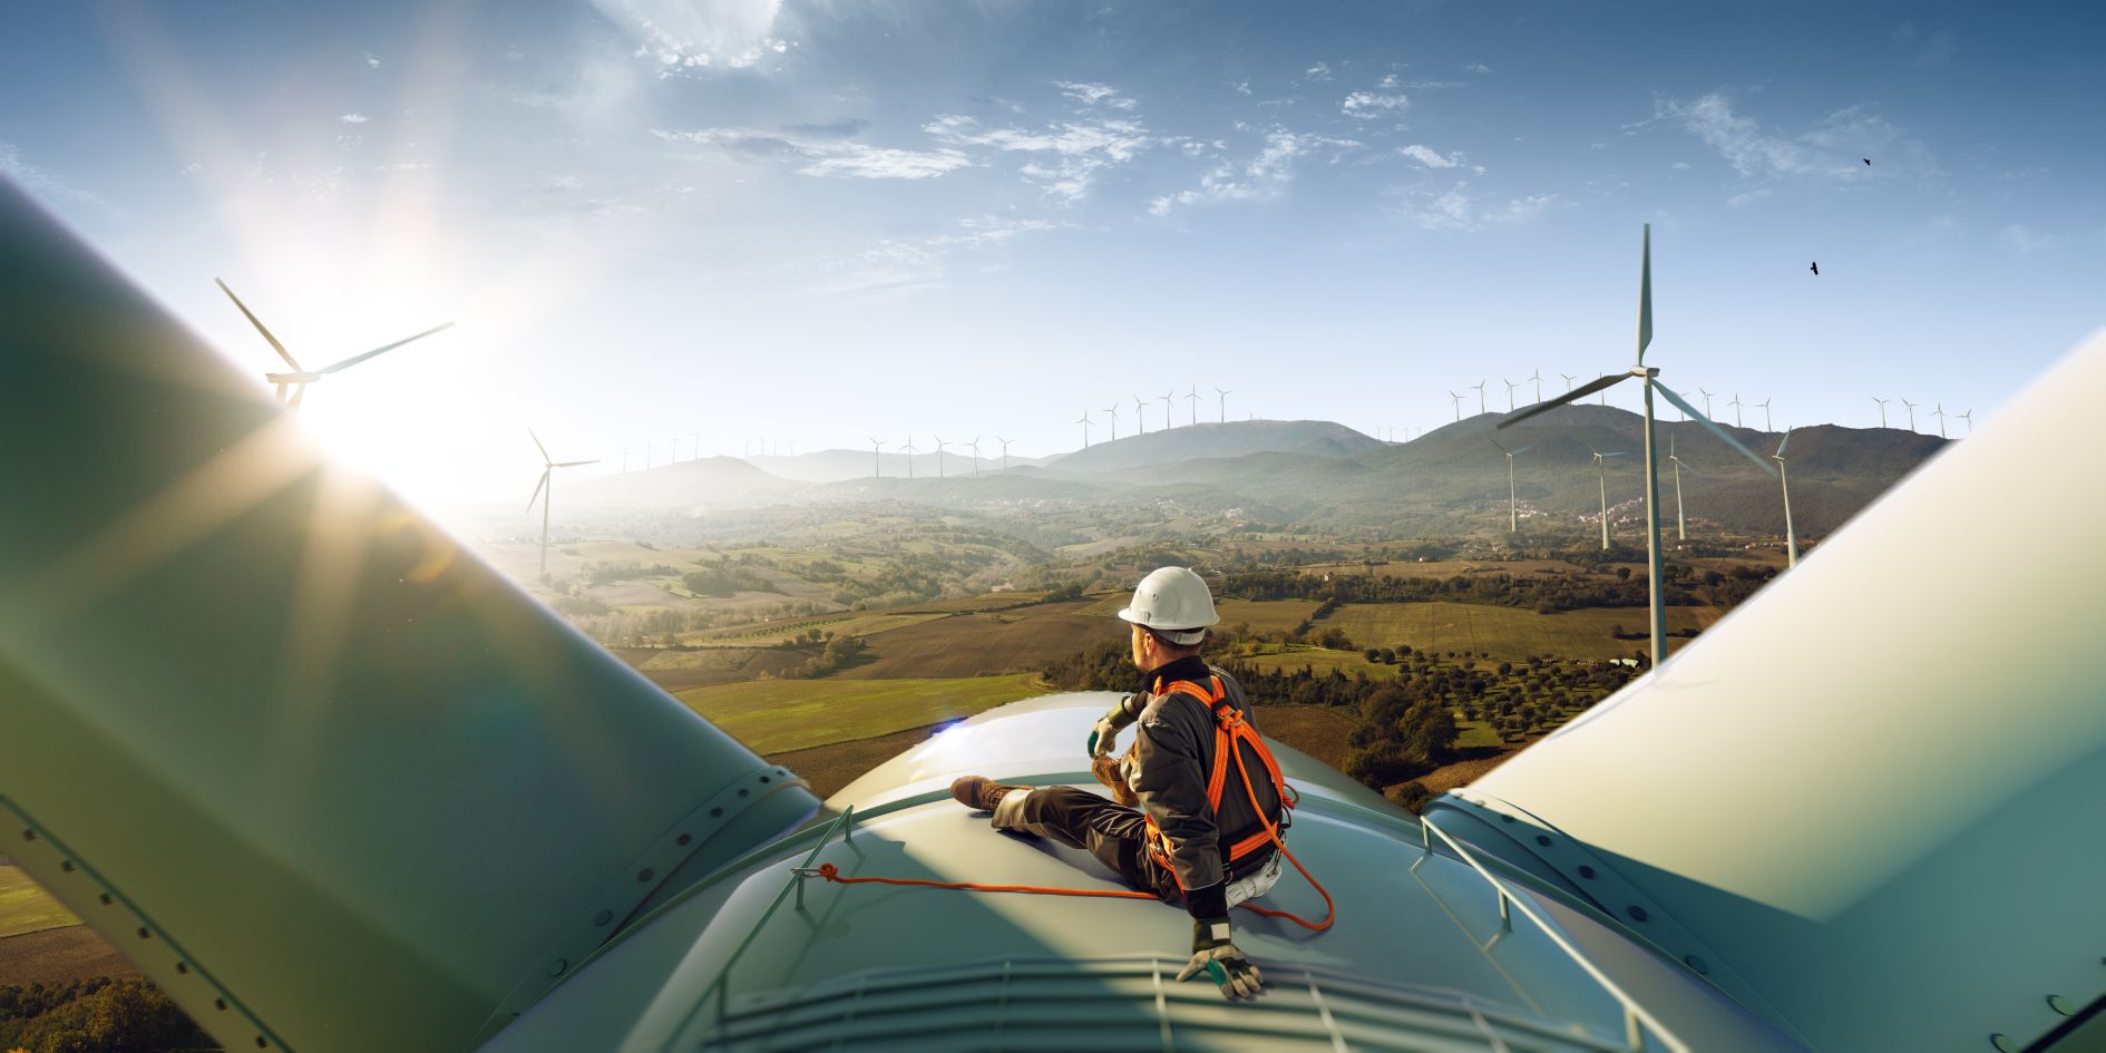
[[[219,1049],[145,979],[0,986],[0,1049],[162,1053]]]

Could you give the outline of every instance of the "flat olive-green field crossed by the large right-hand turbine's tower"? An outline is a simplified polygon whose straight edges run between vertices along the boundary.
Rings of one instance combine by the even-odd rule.
[[[1645,640],[1617,640],[1609,630],[1645,632],[1643,607],[1584,609],[1537,615],[1521,607],[1468,602],[1354,602],[1344,604],[1318,628],[1337,628],[1354,647],[1411,644],[1419,651],[1476,651],[1495,661],[1529,655],[1575,659],[1630,657]],[[1714,607],[1668,607],[1668,632],[1710,628]],[[1687,642],[1687,640],[1678,640]]]

